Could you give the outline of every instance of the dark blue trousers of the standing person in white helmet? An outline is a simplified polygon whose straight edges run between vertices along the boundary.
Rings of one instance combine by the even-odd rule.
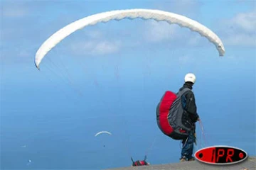
[[[187,139],[182,140],[182,149],[181,149],[181,158],[185,158],[185,159],[191,159],[192,154],[193,154],[193,143],[196,140],[196,137],[194,135],[195,131],[191,130],[191,132],[189,132],[189,135],[187,137]]]

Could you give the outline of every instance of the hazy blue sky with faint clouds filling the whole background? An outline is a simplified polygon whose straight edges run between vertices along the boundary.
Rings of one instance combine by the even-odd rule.
[[[195,150],[231,145],[256,154],[255,1],[0,3],[2,169],[105,169],[130,166],[130,156],[143,159],[145,152],[151,164],[178,162],[179,142],[160,132],[155,109],[187,72],[197,77],[193,91],[206,135],[205,141],[198,124],[202,145]],[[55,31],[128,8],[192,18],[220,37],[225,56],[187,28],[122,20],[76,31],[36,69],[36,51]],[[101,130],[113,135],[94,137]]]

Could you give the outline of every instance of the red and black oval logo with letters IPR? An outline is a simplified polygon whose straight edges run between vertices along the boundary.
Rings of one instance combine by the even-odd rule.
[[[247,153],[237,147],[205,147],[195,153],[198,161],[206,164],[237,164],[247,158]]]

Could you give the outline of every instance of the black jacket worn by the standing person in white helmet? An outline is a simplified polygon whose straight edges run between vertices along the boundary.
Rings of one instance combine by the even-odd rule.
[[[187,82],[185,84],[183,84],[183,86],[181,87],[181,89],[179,89],[180,91],[184,88],[188,88],[192,90],[192,84]],[[188,117],[191,119],[191,121],[193,123],[196,123],[196,121],[198,120],[199,116],[198,113],[196,111],[196,99],[195,96],[193,94],[193,91],[187,91],[185,94],[185,107],[183,108],[187,113],[188,113]]]

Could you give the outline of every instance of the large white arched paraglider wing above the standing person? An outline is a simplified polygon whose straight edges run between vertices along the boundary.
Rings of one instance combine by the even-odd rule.
[[[203,37],[206,37],[210,42],[212,42],[217,48],[219,55],[223,56],[225,53],[225,48],[223,42],[218,38],[213,31],[206,28],[206,26],[201,25],[197,21],[193,21],[186,16],[181,16],[176,13],[169,13],[166,11],[152,10],[152,9],[127,9],[127,10],[117,10],[108,11],[104,13],[97,13],[92,16],[87,16],[78,21],[70,23],[58,30],[56,33],[50,36],[48,40],[43,42],[43,45],[36,52],[35,64],[39,69],[39,64],[43,57],[57,45],[61,40],[68,37],[71,33],[76,30],[80,30],[86,26],[95,25],[100,22],[107,22],[111,20],[122,20],[124,18],[143,18],[143,19],[154,19],[155,21],[166,21],[167,23],[176,23],[179,26],[189,28],[190,30],[196,31]]]

